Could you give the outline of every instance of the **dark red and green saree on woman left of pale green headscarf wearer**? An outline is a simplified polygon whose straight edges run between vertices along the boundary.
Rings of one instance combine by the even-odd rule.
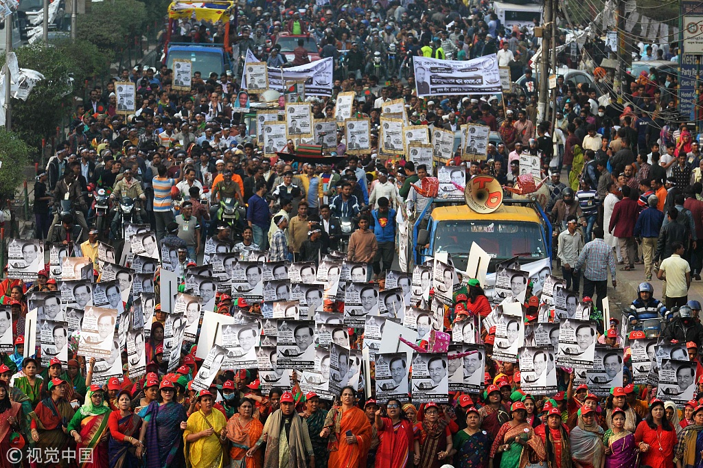
[[[39,432],[39,442],[37,448],[44,453],[45,450],[58,449],[59,453],[69,448],[72,445],[71,438],[63,432],[63,422],[70,421],[75,415],[71,404],[64,398],[58,401],[53,401],[51,398],[46,398],[39,402],[34,410],[33,417],[37,422],[37,431]],[[67,460],[65,457],[60,459],[58,463],[46,464],[46,468],[68,467],[73,460]]]

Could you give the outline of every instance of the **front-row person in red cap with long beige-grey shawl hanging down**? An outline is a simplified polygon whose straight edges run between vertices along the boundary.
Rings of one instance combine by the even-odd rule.
[[[266,442],[264,468],[305,468],[315,463],[307,424],[295,412],[293,394],[280,396],[280,409],[266,419],[264,432],[254,448]]]

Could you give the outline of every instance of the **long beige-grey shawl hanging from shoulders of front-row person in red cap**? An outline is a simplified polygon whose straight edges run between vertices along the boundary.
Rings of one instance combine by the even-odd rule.
[[[307,467],[307,457],[311,455],[312,446],[308,434],[307,425],[297,412],[293,413],[290,421],[290,433],[288,435],[288,467],[278,467],[278,457],[280,456],[280,434],[284,431],[283,412],[276,410],[266,419],[264,434],[269,434],[266,441],[266,455],[264,456],[264,468],[304,468]],[[262,435],[263,437],[263,435]]]

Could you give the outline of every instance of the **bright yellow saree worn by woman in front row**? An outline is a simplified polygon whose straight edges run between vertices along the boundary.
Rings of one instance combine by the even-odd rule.
[[[224,461],[220,433],[227,425],[227,420],[218,410],[212,409],[209,415],[202,410],[194,412],[188,417],[188,427],[183,431],[183,443],[186,447],[186,464],[192,468],[221,468]],[[197,441],[188,442],[189,434],[212,429],[211,436],[199,438]]]

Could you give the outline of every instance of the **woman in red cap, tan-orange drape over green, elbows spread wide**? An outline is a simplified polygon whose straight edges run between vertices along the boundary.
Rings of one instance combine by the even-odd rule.
[[[524,468],[529,460],[544,461],[546,453],[542,440],[527,424],[527,410],[520,401],[510,407],[512,420],[501,426],[491,447],[489,468],[493,468],[496,453],[501,453],[501,468]]]

